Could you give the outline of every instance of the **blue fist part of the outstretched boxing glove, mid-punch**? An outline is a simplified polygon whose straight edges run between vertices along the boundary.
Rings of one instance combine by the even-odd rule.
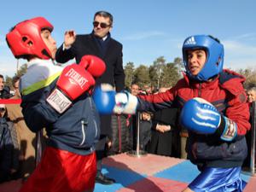
[[[93,91],[93,100],[99,113],[111,114],[115,106],[115,90],[111,84],[101,84]]]

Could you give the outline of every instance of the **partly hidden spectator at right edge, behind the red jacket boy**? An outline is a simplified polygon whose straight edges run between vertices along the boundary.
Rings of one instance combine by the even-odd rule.
[[[255,86],[253,86],[247,90],[247,102],[248,102],[248,106],[249,106],[249,110],[250,110],[250,123],[252,125],[252,123],[253,123],[253,117],[252,117],[253,102],[256,102],[256,87]],[[247,153],[246,160],[243,162],[243,167],[247,169],[248,167],[250,167],[250,163],[251,163],[252,129],[247,132],[246,138],[247,138],[248,153]]]

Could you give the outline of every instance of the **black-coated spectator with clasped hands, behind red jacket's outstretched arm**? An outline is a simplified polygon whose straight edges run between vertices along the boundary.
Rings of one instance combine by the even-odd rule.
[[[159,93],[168,88],[160,88]],[[151,142],[148,152],[166,156],[178,156],[177,108],[166,108],[154,113]],[[174,150],[173,150],[173,149]],[[176,152],[176,153],[175,153]]]

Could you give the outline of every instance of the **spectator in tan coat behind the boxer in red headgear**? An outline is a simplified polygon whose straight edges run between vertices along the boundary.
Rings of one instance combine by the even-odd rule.
[[[12,80],[12,84],[15,90],[15,96],[10,97],[10,99],[20,99],[20,77],[15,76]],[[17,131],[20,150],[20,177],[26,179],[26,177],[32,174],[35,168],[35,147],[32,143],[35,139],[35,133],[27,128],[19,104],[7,104],[6,108],[9,119],[14,122],[15,130]]]

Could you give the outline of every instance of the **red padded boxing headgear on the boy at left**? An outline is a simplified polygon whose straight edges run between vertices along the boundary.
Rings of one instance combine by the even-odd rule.
[[[17,59],[24,58],[26,55],[36,55],[41,59],[50,59],[52,55],[44,44],[41,31],[48,29],[52,32],[53,28],[44,17],[24,20],[14,26],[6,35],[6,41]]]

